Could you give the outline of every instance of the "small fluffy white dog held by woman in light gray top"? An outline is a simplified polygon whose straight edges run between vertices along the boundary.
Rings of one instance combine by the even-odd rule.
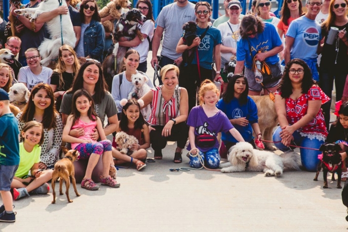
[[[129,93],[128,99],[132,98],[132,94],[136,93],[138,95],[138,99],[144,96],[147,92],[151,90],[148,82],[150,79],[141,73],[133,74],[131,77],[132,84],[134,85],[133,90]],[[141,110],[144,118],[149,118],[151,114],[151,107],[147,105],[145,108]]]

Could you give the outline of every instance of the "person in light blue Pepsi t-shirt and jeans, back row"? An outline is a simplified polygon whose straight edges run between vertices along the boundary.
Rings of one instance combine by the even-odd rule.
[[[319,13],[322,0],[307,0],[306,15],[291,22],[285,37],[284,59],[287,64],[291,59],[304,60],[311,69],[314,80],[319,80],[316,68],[317,48],[320,46],[321,28],[315,21]]]

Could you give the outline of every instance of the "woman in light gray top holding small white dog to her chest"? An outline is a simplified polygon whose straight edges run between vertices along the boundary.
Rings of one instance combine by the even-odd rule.
[[[132,83],[132,75],[139,73],[139,71],[137,71],[137,68],[139,66],[139,59],[139,52],[134,49],[129,49],[123,58],[125,71],[117,74],[113,78],[111,95],[114,98],[118,112],[122,112],[122,106],[119,104],[119,101],[124,98],[128,99],[129,93],[134,89],[134,85]],[[142,74],[148,77],[146,74]],[[152,88],[154,87],[151,81],[148,82],[148,85]]]

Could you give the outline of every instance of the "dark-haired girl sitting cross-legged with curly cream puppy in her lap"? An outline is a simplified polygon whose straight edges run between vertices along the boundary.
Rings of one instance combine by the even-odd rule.
[[[140,102],[143,103],[142,100]],[[123,131],[128,135],[135,136],[138,139],[139,144],[133,145],[133,150],[135,152],[129,156],[116,151],[114,155],[116,159],[114,162],[115,165],[129,162],[134,163],[137,166],[137,170],[140,171],[146,166],[144,163],[147,157],[146,149],[150,148],[149,126],[140,111],[140,105],[137,100],[122,99],[120,104],[123,105],[123,109],[121,112],[119,127],[117,128],[116,132]],[[113,146],[117,146],[115,140]]]

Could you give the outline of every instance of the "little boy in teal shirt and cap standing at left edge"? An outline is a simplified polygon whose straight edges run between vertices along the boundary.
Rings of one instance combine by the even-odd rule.
[[[0,222],[16,221],[10,186],[19,164],[19,130],[9,104],[8,94],[0,88]]]

